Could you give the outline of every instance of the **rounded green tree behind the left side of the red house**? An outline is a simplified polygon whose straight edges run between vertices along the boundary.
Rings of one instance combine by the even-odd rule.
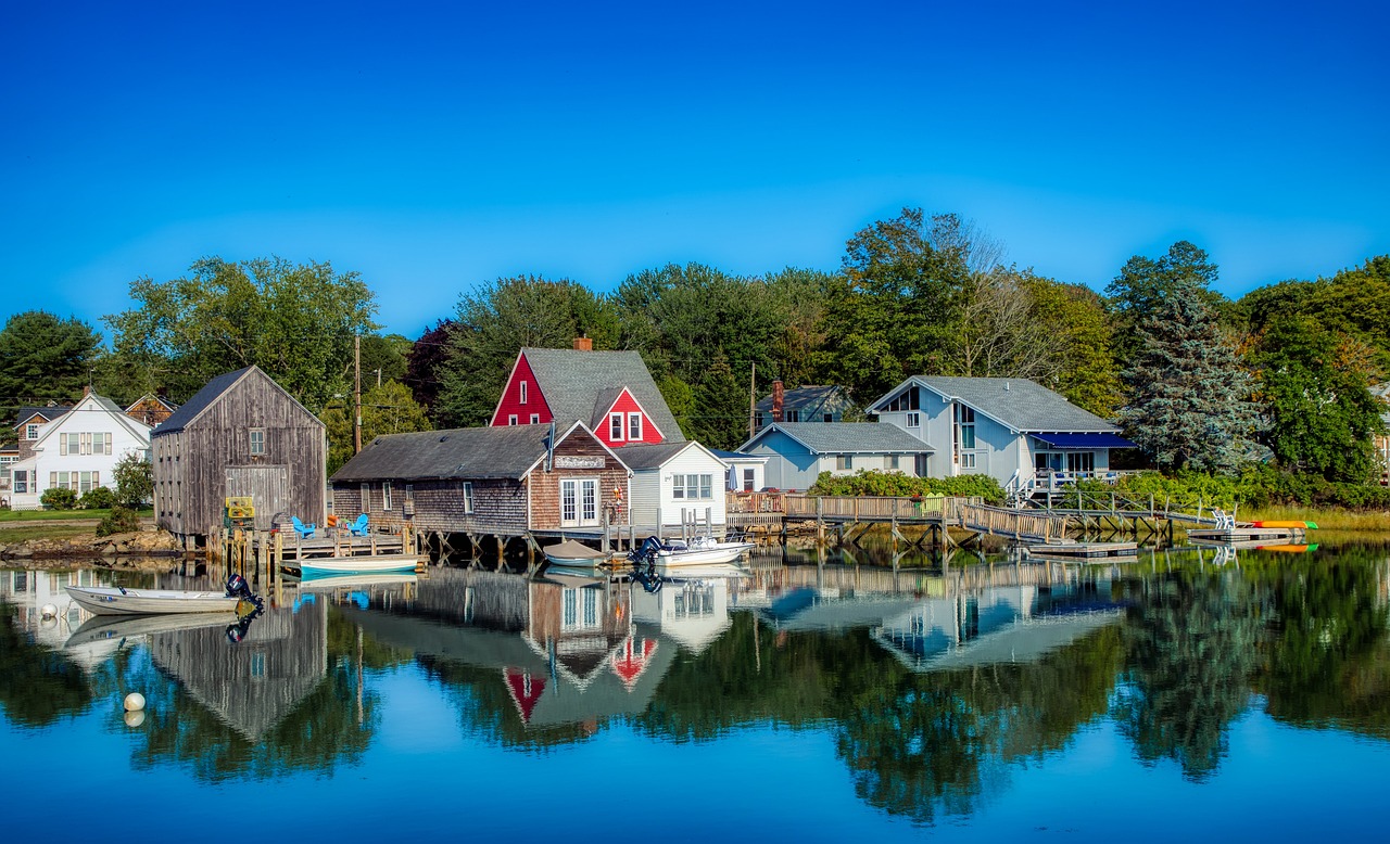
[[[619,322],[613,307],[578,282],[517,276],[463,294],[448,362],[436,369],[436,423],[486,425],[521,348],[570,348],[581,336],[594,348],[616,348]]]

